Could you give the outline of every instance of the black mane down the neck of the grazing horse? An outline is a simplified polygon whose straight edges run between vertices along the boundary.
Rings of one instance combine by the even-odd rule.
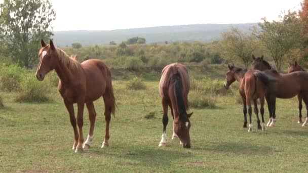
[[[185,103],[183,98],[183,84],[182,78],[179,72],[175,73],[171,77],[171,81],[174,83],[174,95],[178,111],[180,116],[186,116]]]

